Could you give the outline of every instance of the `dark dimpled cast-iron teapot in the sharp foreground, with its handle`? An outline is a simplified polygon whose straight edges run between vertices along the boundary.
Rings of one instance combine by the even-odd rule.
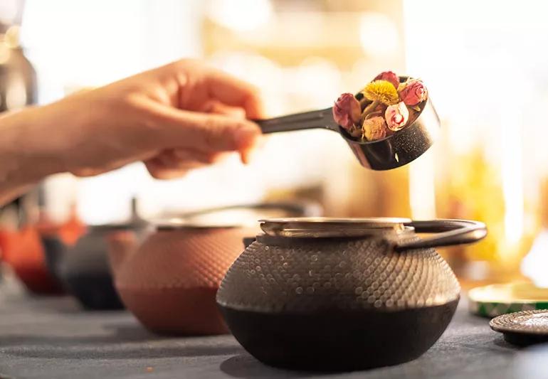
[[[433,247],[475,242],[482,223],[399,218],[261,221],[217,304],[268,365],[357,370],[410,361],[453,317],[460,286]],[[425,239],[416,233],[439,233]]]

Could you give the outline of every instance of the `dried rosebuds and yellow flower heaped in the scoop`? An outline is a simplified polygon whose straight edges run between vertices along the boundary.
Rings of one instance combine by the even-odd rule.
[[[376,75],[360,92],[358,100],[351,93],[339,96],[333,118],[357,140],[375,141],[412,124],[428,99],[428,91],[419,79],[400,83],[392,71]]]

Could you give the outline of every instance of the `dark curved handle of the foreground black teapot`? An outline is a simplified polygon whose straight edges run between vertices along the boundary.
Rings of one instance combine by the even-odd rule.
[[[413,220],[405,225],[415,228],[416,233],[435,233],[436,235],[409,242],[397,242],[394,247],[396,251],[463,245],[478,242],[487,235],[487,227],[484,223],[470,220]]]

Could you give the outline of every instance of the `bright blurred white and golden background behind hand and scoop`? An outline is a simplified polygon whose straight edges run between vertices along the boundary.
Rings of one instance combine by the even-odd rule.
[[[260,87],[270,116],[329,107],[384,70],[420,77],[443,126],[431,151],[386,172],[318,130],[178,181],[141,164],[58,175],[5,207],[1,225],[17,228],[21,208],[27,220],[117,222],[132,198],[145,218],[310,198],[332,216],[482,220],[485,241],[443,251],[463,282],[546,283],[547,11],[540,0],[1,0],[0,110],[193,57]]]

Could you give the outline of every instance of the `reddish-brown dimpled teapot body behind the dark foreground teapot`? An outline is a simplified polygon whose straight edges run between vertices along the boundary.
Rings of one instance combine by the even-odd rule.
[[[215,295],[226,270],[243,250],[243,237],[250,233],[257,230],[157,230],[115,267],[122,301],[156,333],[227,333]]]

